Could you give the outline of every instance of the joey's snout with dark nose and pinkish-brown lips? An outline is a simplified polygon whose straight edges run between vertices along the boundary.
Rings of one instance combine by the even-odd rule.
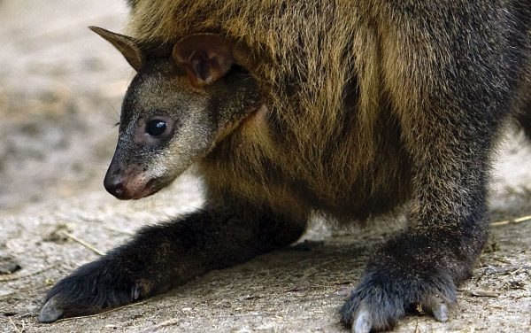
[[[121,168],[112,163],[105,174],[104,187],[120,200],[148,197],[159,189],[155,180],[147,179],[142,168],[129,166]]]

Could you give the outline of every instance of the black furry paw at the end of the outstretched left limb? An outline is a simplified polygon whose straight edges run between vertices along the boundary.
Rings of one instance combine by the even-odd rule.
[[[78,268],[46,295],[39,321],[96,314],[147,296],[147,283],[135,283],[111,260],[100,259]]]

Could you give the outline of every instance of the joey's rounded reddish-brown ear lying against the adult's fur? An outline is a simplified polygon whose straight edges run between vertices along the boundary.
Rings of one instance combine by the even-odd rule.
[[[235,63],[231,45],[216,34],[188,35],[173,46],[173,60],[186,69],[191,84],[204,87],[223,77]]]

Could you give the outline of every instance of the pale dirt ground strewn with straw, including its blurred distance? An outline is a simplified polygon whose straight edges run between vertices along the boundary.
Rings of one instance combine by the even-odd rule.
[[[0,331],[344,331],[337,310],[373,246],[404,224],[401,214],[346,230],[316,218],[301,243],[158,298],[36,321],[46,290],[61,276],[136,229],[202,205],[191,173],[137,202],[103,189],[113,124],[133,73],[86,27],[119,31],[126,15],[124,4],[104,0],[0,0]],[[531,215],[530,146],[514,130],[500,145],[493,222]],[[492,226],[473,278],[459,290],[449,322],[413,314],[396,331],[531,331],[531,221]]]

